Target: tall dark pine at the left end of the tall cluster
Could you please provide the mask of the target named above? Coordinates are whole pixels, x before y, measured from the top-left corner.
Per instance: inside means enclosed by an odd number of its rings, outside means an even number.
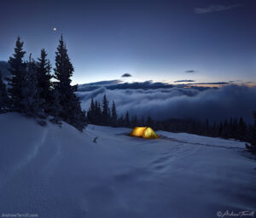
[[[10,109],[15,112],[24,112],[21,101],[23,100],[22,88],[26,80],[26,62],[23,60],[25,54],[23,42],[20,41],[20,37],[17,37],[15,54],[9,57],[9,72],[11,77],[7,78],[9,81],[9,95],[11,97]]]

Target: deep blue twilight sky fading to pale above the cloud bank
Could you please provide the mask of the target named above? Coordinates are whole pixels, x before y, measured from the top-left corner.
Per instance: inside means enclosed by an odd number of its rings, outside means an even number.
[[[63,33],[74,83],[126,72],[132,77],[122,79],[130,82],[256,82],[254,0],[2,0],[0,6],[0,60],[13,54],[20,35],[28,53],[36,57],[45,48],[54,66]]]

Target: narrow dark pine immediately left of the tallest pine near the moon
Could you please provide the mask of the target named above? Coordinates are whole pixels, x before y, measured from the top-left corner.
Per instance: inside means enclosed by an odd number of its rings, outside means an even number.
[[[47,53],[44,49],[41,49],[40,58],[37,62],[37,76],[38,76],[38,95],[43,101],[43,110],[46,113],[51,112],[51,105],[55,104],[52,93],[52,83],[50,79],[50,63],[47,59]]]

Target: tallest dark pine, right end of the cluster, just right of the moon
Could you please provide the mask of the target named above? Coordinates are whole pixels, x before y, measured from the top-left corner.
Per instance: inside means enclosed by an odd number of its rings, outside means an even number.
[[[62,35],[55,54],[54,77],[57,81],[54,83],[54,88],[61,94],[60,117],[77,129],[82,130],[86,124],[84,112],[81,110],[79,98],[75,95],[77,85],[71,85],[71,77],[73,76],[74,70],[67,54],[67,47],[63,41]]]

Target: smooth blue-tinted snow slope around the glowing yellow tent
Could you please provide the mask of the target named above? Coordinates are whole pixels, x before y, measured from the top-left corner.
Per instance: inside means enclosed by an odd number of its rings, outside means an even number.
[[[256,163],[244,142],[0,115],[0,214],[217,217],[256,210]],[[98,136],[97,143],[92,142]]]

